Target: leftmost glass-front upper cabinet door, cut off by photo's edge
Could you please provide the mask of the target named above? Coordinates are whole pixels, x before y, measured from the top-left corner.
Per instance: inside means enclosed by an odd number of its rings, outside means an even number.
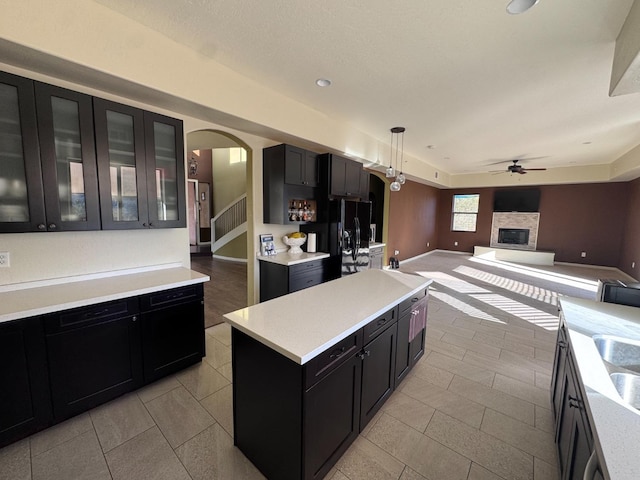
[[[33,81],[0,72],[0,232],[46,230]]]

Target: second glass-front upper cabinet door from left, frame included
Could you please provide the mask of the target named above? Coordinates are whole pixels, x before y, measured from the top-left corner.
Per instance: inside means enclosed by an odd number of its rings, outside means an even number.
[[[47,230],[99,230],[91,97],[35,85]]]

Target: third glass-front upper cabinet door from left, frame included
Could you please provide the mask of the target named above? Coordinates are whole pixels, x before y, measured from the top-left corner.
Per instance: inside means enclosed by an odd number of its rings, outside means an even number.
[[[149,228],[143,111],[99,98],[93,108],[102,228]]]

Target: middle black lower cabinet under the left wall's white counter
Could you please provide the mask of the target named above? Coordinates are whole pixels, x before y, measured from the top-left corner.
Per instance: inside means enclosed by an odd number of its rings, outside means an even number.
[[[44,323],[56,421],[142,385],[136,299],[49,315]]]

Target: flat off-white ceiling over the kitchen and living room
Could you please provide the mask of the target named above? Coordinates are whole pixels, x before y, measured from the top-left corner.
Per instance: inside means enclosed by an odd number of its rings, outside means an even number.
[[[517,16],[507,0],[96,1],[383,145],[404,126],[405,152],[450,174],[609,164],[640,144],[640,93],[608,94],[633,0]]]

